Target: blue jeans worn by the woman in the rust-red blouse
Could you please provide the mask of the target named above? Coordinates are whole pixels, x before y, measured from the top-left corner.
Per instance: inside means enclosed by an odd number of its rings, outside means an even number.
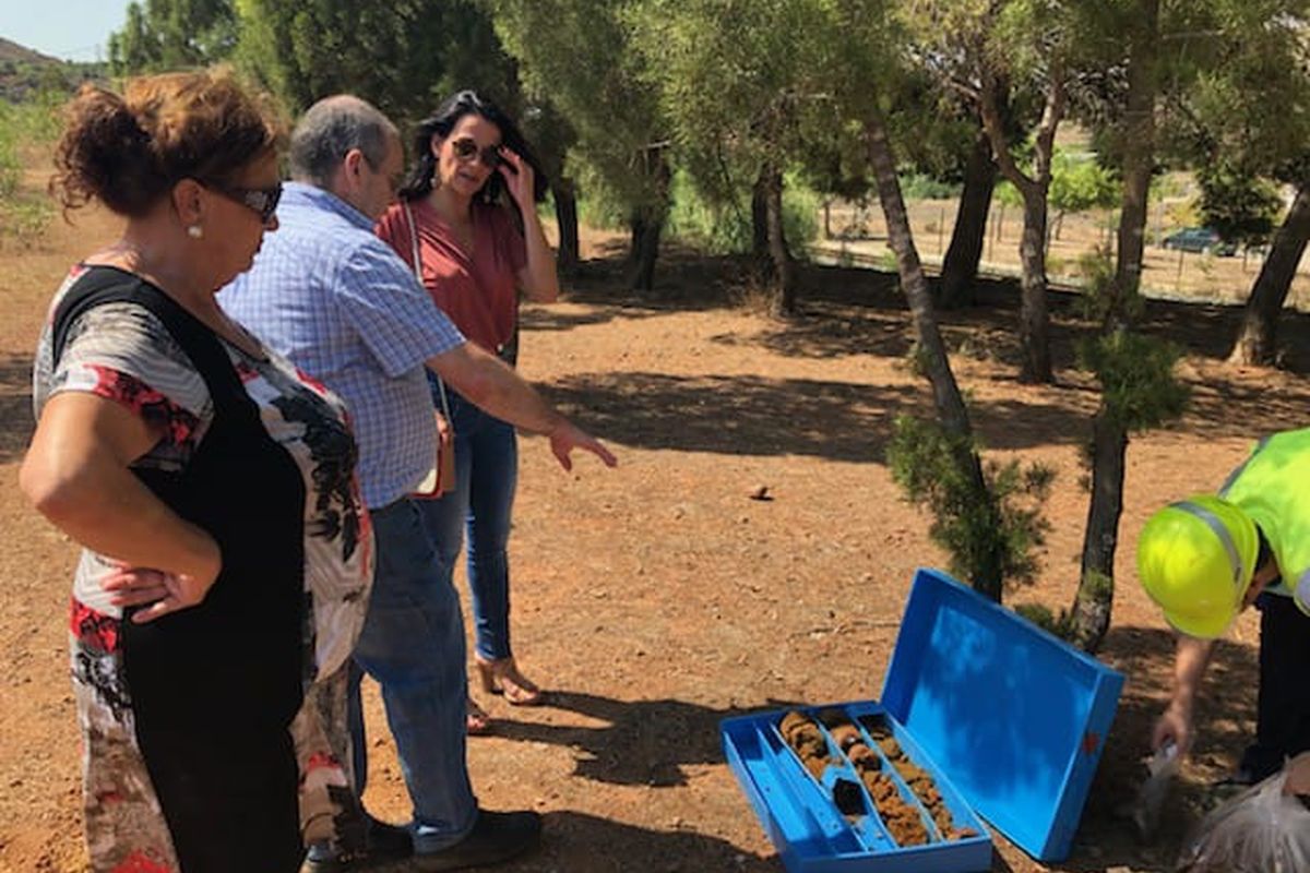
[[[432,383],[432,402],[441,398]],[[483,660],[507,658],[510,648],[510,514],[519,479],[519,444],[514,425],[487,415],[445,387],[455,427],[455,491],[439,500],[417,501],[432,544],[447,569],[460,558],[469,537],[469,589],[477,628],[477,653]]]

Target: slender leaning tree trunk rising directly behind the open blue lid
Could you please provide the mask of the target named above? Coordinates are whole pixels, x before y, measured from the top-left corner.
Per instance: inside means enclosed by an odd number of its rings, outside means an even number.
[[[933,402],[938,419],[948,433],[962,437],[962,445],[971,445],[968,440],[972,437],[972,428],[969,427],[968,408],[964,406],[960,387],[955,382],[955,374],[951,373],[950,359],[946,356],[946,344],[942,342],[937,314],[933,312],[933,297],[927,289],[918,250],[914,247],[900,181],[896,178],[896,158],[892,156],[891,141],[887,139],[887,128],[879,116],[870,115],[865,120],[865,141],[878,182],[878,199],[882,202],[883,215],[887,217],[887,238],[892,251],[896,253],[896,271],[900,275],[901,291],[905,292],[905,300],[909,302],[910,315],[914,319],[922,366],[933,386]],[[982,462],[979,459],[977,452],[968,449],[962,452],[956,459],[971,484],[975,504],[993,516],[994,527],[1000,529],[996,500],[982,478]],[[975,590],[1000,602],[1002,558],[998,544],[982,558],[981,563],[977,577],[971,582]]]

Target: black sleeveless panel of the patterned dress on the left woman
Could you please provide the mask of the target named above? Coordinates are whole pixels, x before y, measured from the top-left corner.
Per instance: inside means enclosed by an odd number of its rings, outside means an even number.
[[[122,623],[136,739],[186,873],[295,870],[299,776],[288,726],[305,674],[305,484],[219,338],[138,276],[93,267],[77,280],[55,312],[55,360],[80,314],[118,301],[164,323],[214,403],[181,471],[134,472],[223,555],[200,605]]]

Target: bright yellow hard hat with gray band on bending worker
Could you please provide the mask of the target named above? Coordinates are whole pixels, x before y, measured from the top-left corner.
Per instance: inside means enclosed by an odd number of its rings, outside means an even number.
[[[1137,539],[1137,577],[1176,630],[1222,636],[1255,575],[1260,535],[1250,516],[1213,495],[1171,503]]]

